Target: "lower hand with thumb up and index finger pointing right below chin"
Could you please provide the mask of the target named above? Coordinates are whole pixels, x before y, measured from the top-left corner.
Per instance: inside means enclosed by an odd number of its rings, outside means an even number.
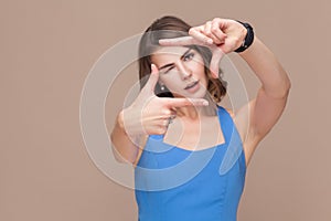
[[[206,106],[203,98],[158,97],[154,87],[159,80],[159,70],[151,65],[151,74],[135,102],[121,112],[122,123],[129,136],[166,134],[169,120],[175,117],[175,107]]]

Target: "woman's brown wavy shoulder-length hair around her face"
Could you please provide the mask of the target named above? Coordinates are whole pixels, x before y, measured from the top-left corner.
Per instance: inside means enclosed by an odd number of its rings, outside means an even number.
[[[172,39],[179,36],[189,36],[189,25],[183,20],[177,17],[162,17],[157,19],[143,33],[139,43],[139,80],[140,88],[142,88],[148,81],[148,76],[151,73],[151,55],[160,48],[160,39]],[[223,72],[220,69],[218,78],[213,78],[209,69],[212,52],[206,46],[201,45],[188,45],[188,48],[194,49],[201,54],[204,62],[204,72],[207,76],[207,91],[215,103],[220,103],[226,94],[227,82],[222,80]],[[173,95],[167,90],[162,92],[159,83],[156,85],[156,94],[160,97],[173,97]]]

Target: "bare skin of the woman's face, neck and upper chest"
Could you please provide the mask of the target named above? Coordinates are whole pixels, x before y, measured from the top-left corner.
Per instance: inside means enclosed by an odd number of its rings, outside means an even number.
[[[151,56],[160,72],[159,83],[168,87],[174,97],[203,98],[206,93],[207,76],[203,59],[193,49],[163,46]],[[185,87],[199,82],[192,90]],[[204,149],[224,143],[217,116],[205,116],[200,107],[175,108],[175,119],[168,126],[164,143],[184,149]]]

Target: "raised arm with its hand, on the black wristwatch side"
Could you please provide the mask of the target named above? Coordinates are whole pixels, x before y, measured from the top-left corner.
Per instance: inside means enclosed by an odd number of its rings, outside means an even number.
[[[238,49],[247,29],[239,22],[215,18],[190,30],[192,38],[161,40],[163,45],[203,44],[213,52],[211,71],[216,71],[223,54]],[[238,53],[259,78],[261,86],[254,99],[233,113],[234,120],[243,138],[248,164],[258,143],[271,130],[287,103],[290,80],[273,52],[255,35],[252,45]]]

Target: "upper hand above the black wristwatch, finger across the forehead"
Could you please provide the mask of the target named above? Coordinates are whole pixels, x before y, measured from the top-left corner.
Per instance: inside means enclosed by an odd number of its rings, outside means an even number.
[[[224,54],[238,49],[247,30],[239,22],[229,19],[215,18],[205,24],[190,29],[191,36],[162,39],[159,41],[164,46],[183,46],[190,44],[203,45],[211,49],[213,56],[210,65],[212,76],[218,77],[218,66]]]

